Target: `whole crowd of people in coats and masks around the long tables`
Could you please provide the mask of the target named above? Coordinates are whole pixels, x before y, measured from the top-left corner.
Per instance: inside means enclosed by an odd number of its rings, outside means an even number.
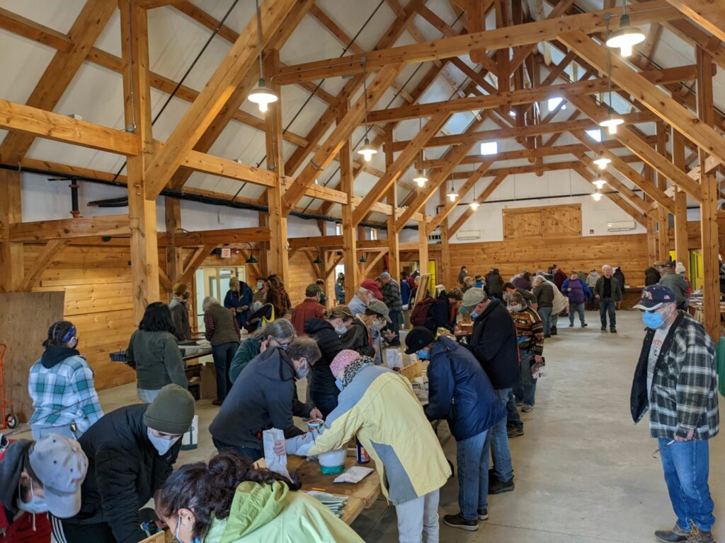
[[[637,307],[648,332],[631,409],[639,421],[650,405],[678,519],[658,537],[711,542],[712,500],[702,465],[707,439],[718,431],[709,380],[713,345],[678,311],[688,296],[679,264],[655,262],[645,274],[653,282]],[[294,473],[257,467],[265,455],[262,432],[272,428],[284,436],[274,444],[276,454],[320,455],[357,440],[395,507],[400,542],[439,540],[439,491],[454,473],[459,510],[442,521],[476,531],[489,518],[489,495],[515,489],[509,440],[523,436],[522,413],[536,405],[544,345],[558,334],[558,317],[568,313],[574,327],[578,316],[587,327],[584,309],[596,304],[602,331],[615,333],[624,276],[608,265],[601,274],[567,274],[553,265],[505,281],[498,269],[471,276],[463,266],[458,279],[434,296],[417,292],[419,271],[399,281],[384,272],[360,282],[345,303],[341,274],[334,304],[326,307],[325,285],[316,282],[293,307],[278,276],[258,277],[256,292],[234,277],[223,303],[202,302],[217,376],[213,403],[220,406],[208,431],[218,454],[176,471],[180,439],[195,413],[178,348],[191,340],[187,286],[174,286],[169,305],[146,308],[126,351],[143,403],[111,413],[101,409],[93,372],[78,351],[78,330],[68,321],[53,324],[30,369],[33,440],[0,445],[0,540],[2,530],[10,541],[47,541],[52,531],[60,543],[135,543],[144,539],[142,508],[153,499],[149,518],[182,543],[362,541],[297,492]],[[410,381],[387,365],[386,348],[402,344],[427,363],[423,405]],[[668,392],[673,372],[687,376],[687,391]],[[304,398],[301,379],[307,379]],[[658,392],[650,395],[653,384]],[[312,439],[294,417],[323,419],[321,432]],[[447,421],[455,465],[434,421]],[[673,438],[679,444],[667,448]],[[694,470],[694,479],[678,475],[685,469]]]

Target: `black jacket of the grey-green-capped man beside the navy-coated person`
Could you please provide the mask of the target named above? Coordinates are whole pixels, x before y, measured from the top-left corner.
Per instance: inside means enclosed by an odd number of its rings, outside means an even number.
[[[476,355],[495,390],[513,387],[521,370],[518,363],[516,327],[499,300],[491,300],[486,310],[473,321],[468,345]]]

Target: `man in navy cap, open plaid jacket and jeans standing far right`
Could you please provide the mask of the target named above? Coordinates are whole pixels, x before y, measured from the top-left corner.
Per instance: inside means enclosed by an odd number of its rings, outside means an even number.
[[[703,325],[676,307],[676,295],[650,285],[634,306],[647,327],[630,395],[637,424],[650,411],[665,483],[677,521],[655,531],[660,542],[714,543],[708,487],[709,440],[718,434],[715,345]]]

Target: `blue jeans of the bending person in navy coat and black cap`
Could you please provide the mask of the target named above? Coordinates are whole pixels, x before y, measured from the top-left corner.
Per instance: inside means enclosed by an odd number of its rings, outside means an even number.
[[[486,505],[481,505],[486,502],[486,494],[481,494],[481,492],[484,488],[488,492],[489,480],[488,452],[484,455],[486,434],[488,434],[488,430],[455,444],[458,466],[458,505],[460,514],[467,521],[477,520],[477,510],[486,507]]]

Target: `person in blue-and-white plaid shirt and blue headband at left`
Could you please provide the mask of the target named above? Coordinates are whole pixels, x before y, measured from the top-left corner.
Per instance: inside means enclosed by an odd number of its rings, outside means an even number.
[[[72,322],[55,322],[43,347],[28,377],[33,439],[39,441],[51,433],[78,439],[103,416],[94,372],[77,349],[78,330]]]

